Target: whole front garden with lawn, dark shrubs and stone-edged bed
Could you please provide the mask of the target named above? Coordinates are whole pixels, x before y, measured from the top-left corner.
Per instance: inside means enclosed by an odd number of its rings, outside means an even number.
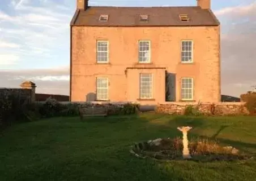
[[[108,117],[80,120],[76,104],[8,100],[1,114],[9,118],[0,132],[0,180],[256,177],[255,116],[203,116],[191,107],[187,115],[141,113],[126,104]],[[184,157],[182,126],[189,127],[190,158]]]

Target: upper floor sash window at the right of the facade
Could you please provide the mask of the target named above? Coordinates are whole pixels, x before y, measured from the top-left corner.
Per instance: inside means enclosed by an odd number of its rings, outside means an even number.
[[[193,62],[193,41],[191,40],[181,41],[181,62],[182,63]]]

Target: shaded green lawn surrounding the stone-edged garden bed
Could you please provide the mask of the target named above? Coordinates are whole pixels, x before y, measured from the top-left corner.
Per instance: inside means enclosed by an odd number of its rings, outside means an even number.
[[[0,135],[0,180],[255,180],[256,161],[156,162],[129,153],[134,142],[181,136],[216,138],[256,154],[256,117],[140,116],[51,118],[20,123]]]

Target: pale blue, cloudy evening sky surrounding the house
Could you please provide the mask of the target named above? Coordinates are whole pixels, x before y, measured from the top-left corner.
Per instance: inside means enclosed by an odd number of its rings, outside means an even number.
[[[89,0],[89,6],[195,6],[196,0]],[[36,83],[69,95],[70,21],[76,0],[0,0],[0,87]],[[256,85],[256,0],[212,0],[221,23],[221,94]]]

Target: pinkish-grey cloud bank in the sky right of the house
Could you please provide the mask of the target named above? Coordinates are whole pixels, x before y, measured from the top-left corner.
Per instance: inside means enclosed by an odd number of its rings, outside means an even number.
[[[221,92],[240,96],[256,85],[256,2],[216,11],[221,21]],[[239,85],[239,86],[238,86]]]

